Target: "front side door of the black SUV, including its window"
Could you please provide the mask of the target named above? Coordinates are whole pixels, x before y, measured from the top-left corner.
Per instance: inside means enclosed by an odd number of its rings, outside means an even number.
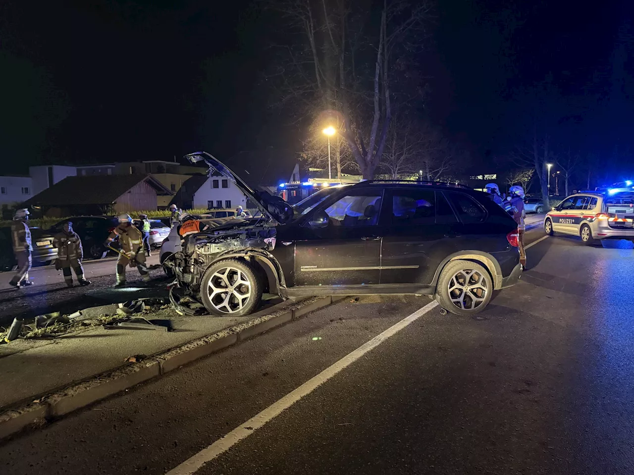
[[[296,286],[378,284],[382,197],[381,188],[351,190],[307,213],[295,241]]]

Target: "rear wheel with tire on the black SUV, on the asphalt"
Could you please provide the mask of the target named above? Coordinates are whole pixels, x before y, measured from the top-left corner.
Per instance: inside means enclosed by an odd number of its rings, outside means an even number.
[[[479,263],[453,260],[441,272],[436,301],[455,315],[479,314],[491,301],[493,279]]]

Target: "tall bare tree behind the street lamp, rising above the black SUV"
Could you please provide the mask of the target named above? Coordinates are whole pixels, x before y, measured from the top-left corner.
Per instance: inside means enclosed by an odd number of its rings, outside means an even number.
[[[281,105],[307,115],[332,111],[337,129],[366,179],[383,156],[392,103],[407,80],[428,0],[384,0],[378,21],[352,0],[269,0],[290,42],[275,82]],[[413,62],[413,61],[411,61]],[[301,113],[299,114],[301,115]]]

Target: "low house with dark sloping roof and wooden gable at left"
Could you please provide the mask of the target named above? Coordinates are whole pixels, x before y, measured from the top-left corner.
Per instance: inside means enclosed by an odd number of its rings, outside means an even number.
[[[69,176],[27,200],[49,217],[156,210],[157,196],[171,196],[152,175]]]

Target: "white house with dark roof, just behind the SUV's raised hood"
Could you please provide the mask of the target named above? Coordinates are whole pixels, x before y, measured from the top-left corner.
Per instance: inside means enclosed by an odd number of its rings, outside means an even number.
[[[183,183],[176,196],[172,198],[179,208],[255,208],[253,203],[247,201],[245,194],[228,178],[222,175],[205,177],[193,175]]]

